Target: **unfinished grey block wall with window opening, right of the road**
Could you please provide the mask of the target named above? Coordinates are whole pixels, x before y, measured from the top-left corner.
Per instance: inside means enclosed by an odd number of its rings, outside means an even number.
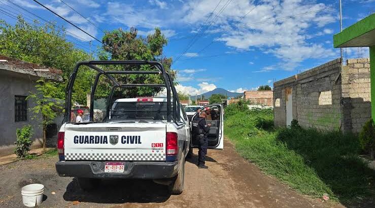
[[[292,88],[293,119],[303,127],[359,132],[370,118],[369,59],[340,60],[274,83],[275,125],[286,125],[285,89]]]

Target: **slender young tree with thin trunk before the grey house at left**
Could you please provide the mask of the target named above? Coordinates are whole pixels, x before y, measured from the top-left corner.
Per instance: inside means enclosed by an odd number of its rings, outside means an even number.
[[[61,93],[58,89],[58,84],[55,82],[46,82],[44,79],[37,81],[36,93],[31,93],[26,97],[26,100],[32,99],[36,106],[31,108],[33,113],[32,119],[41,120],[40,127],[43,130],[43,152],[46,151],[46,135],[47,126],[53,122],[53,119],[57,115],[62,113],[63,100],[56,97],[61,97],[63,95],[56,94]],[[41,118],[42,116],[42,118]]]

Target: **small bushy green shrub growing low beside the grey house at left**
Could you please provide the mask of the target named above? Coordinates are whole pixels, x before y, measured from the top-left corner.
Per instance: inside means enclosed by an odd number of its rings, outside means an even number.
[[[17,129],[17,141],[14,143],[16,145],[14,153],[17,157],[25,157],[28,151],[30,151],[32,133],[33,129],[31,125],[26,125],[21,129]]]

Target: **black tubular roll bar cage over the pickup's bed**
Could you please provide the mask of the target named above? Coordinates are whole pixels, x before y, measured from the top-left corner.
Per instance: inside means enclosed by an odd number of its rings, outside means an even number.
[[[112,60],[93,60],[93,61],[81,61],[78,62],[73,70],[73,73],[71,74],[69,78],[69,82],[66,85],[66,90],[65,90],[65,115],[64,115],[64,122],[70,123],[70,115],[71,115],[71,106],[72,106],[72,90],[74,86],[74,82],[77,77],[77,72],[80,66],[85,65],[93,70],[97,71],[98,74],[95,77],[94,85],[92,86],[91,89],[91,96],[90,96],[90,122],[93,121],[93,116],[94,116],[94,93],[96,90],[96,86],[99,80],[100,75],[105,75],[112,81],[114,86],[111,89],[110,93],[110,98],[112,99],[113,92],[115,87],[165,87],[166,88],[166,99],[167,99],[167,122],[171,122],[171,89],[173,92],[173,100],[174,100],[174,118],[175,121],[177,122],[177,118],[180,119],[180,113],[177,113],[176,111],[176,101],[178,105],[178,109],[180,112],[180,102],[178,99],[178,95],[176,92],[176,89],[173,85],[173,81],[171,79],[171,76],[165,71],[163,65],[158,62],[158,61],[137,61],[137,60],[126,60],[126,61],[112,61]],[[101,68],[95,66],[95,65],[151,65],[155,66],[158,71],[104,71]],[[163,84],[120,84],[114,79],[111,75],[112,74],[143,74],[143,75],[150,75],[150,74],[161,74],[163,79],[164,79],[164,85]],[[110,100],[111,101],[111,100]],[[110,102],[109,101],[109,102]],[[109,103],[108,103],[109,105]],[[109,111],[109,106],[107,105],[107,115]],[[177,117],[177,115],[178,117]]]

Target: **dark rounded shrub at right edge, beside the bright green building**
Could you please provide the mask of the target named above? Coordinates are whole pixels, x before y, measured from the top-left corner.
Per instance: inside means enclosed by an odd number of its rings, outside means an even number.
[[[369,119],[362,127],[359,133],[359,143],[365,151],[369,151],[371,158],[374,158],[375,149],[375,124]]]

